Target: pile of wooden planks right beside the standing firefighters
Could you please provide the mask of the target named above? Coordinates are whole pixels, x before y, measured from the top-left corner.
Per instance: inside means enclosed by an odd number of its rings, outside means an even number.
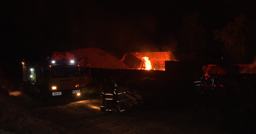
[[[141,103],[143,103],[143,94],[137,90],[130,91],[129,89],[126,89],[125,96],[126,96],[125,104],[128,106],[133,107],[135,105],[138,106]]]

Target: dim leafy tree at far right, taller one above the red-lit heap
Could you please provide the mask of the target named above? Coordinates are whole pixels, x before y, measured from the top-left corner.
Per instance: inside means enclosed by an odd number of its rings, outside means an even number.
[[[236,17],[235,22],[229,22],[222,31],[213,30],[214,40],[221,39],[224,42],[223,51],[229,62],[239,63],[244,59],[246,54],[246,31],[248,30],[247,22],[247,18],[241,13]]]

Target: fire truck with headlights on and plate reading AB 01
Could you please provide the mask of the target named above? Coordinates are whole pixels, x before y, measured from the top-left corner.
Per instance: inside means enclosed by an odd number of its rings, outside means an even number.
[[[22,90],[32,91],[44,101],[55,97],[80,96],[82,87],[90,83],[90,71],[83,72],[81,76],[74,54],[67,51],[54,51],[47,60],[38,63],[23,60],[22,64]]]

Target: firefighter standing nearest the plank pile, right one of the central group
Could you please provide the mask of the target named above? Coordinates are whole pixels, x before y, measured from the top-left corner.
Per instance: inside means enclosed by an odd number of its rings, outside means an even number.
[[[116,102],[119,107],[119,114],[123,114],[125,112],[125,84],[123,82],[119,82],[118,86],[114,90],[114,94],[116,95]]]

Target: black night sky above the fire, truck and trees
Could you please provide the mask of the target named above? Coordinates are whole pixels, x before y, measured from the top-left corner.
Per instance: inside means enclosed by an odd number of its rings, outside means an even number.
[[[171,51],[182,20],[199,11],[212,45],[240,13],[255,22],[255,0],[3,0],[1,57],[38,59],[49,51],[96,47],[120,51]],[[8,55],[8,56],[7,56]],[[8,58],[4,58],[8,59]]]

